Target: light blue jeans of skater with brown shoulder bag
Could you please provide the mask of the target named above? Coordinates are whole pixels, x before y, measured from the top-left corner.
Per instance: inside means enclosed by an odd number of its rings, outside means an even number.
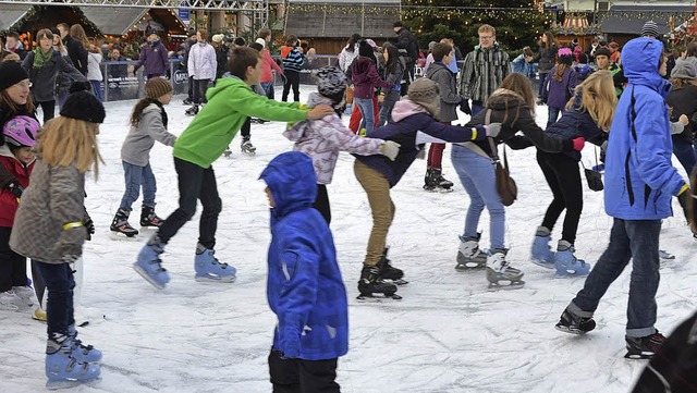
[[[505,209],[497,191],[493,160],[460,145],[453,145],[451,157],[455,172],[469,195],[469,208],[461,240],[477,236],[479,218],[486,206],[490,218],[490,249],[505,248]]]

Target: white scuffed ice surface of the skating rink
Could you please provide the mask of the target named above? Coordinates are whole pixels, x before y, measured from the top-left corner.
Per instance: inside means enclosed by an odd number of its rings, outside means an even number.
[[[303,100],[314,88],[302,87]],[[279,91],[280,93],[280,91]],[[170,130],[180,134],[191,121],[183,97],[168,107]],[[135,242],[109,238],[109,224],[123,194],[120,148],[134,101],[107,105],[99,144],[106,164],[99,181],[87,183],[87,208],[97,233],[85,245],[83,341],[105,353],[102,380],[76,392],[270,392],[267,355],[274,318],[266,302],[269,243],[265,165],[291,148],[282,123],[253,125],[256,157],[240,152],[213,165],[223,211],[217,256],[237,268],[233,284],[193,280],[198,214],[172,240],[163,255],[171,283],[154,288],[131,268],[146,236]],[[538,108],[545,124],[546,108]],[[345,116],[347,122],[347,116]],[[401,302],[359,304],[356,282],[370,231],[367,197],[353,174],[354,159],[342,153],[329,186],[339,261],[350,297],[350,352],[339,361],[343,392],[628,392],[645,361],[625,360],[624,326],[629,270],[600,303],[597,329],[585,336],[554,330],[560,314],[583,279],[558,280],[553,271],[528,262],[534,232],[551,200],[535,161],[535,149],[509,150],[518,200],[506,209],[510,260],[525,272],[526,285],[490,292],[484,271],[457,272],[457,235],[468,199],[456,179],[448,147],[444,174],[450,194],[421,189],[426,162],[417,160],[393,189],[396,216],[389,235],[390,257],[411,283]],[[586,147],[586,164],[592,148]],[[158,207],[167,217],[179,193],[171,149],[156,144],[151,164],[158,180]],[[132,223],[137,223],[139,201]],[[674,209],[678,212],[677,204]],[[603,251],[611,219],[602,193],[585,188],[585,209],[576,243],[579,257],[594,262]],[[480,229],[488,247],[488,214]],[[561,221],[553,233],[558,240]],[[676,259],[664,262],[658,293],[658,328],[670,332],[697,308],[695,242],[681,218],[663,222],[662,248]],[[103,316],[103,317],[102,317]],[[0,314],[0,392],[44,391],[46,326],[28,312]]]

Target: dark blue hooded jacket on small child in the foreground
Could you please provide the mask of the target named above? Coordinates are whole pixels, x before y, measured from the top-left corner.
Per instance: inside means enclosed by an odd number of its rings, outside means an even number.
[[[276,157],[261,172],[276,207],[267,298],[278,317],[273,347],[290,358],[333,359],[348,352],[348,304],[334,241],[313,208],[317,177],[303,152]]]

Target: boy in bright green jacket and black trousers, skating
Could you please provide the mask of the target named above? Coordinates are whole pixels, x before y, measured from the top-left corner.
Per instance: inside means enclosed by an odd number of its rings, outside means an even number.
[[[200,214],[198,244],[194,269],[196,281],[233,282],[235,268],[221,263],[213,256],[216,229],[222,201],[218,196],[216,174],[211,163],[224,151],[247,116],[298,122],[317,120],[334,111],[330,106],[305,109],[297,102],[278,102],[259,96],[250,88],[259,84],[261,54],[247,47],[235,48],[228,63],[232,77],[216,82],[208,89],[208,105],[194,118],[174,144],[174,169],[179,179],[179,209],[174,210],[138,254],[133,268],[150,284],[163,288],[169,274],[162,268],[160,254],[174,234],[196,212],[196,199],[204,211]]]

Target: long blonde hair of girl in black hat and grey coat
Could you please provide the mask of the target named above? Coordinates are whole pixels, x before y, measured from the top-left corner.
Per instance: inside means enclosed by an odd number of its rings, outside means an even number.
[[[99,162],[105,162],[97,147],[98,133],[97,123],[58,116],[46,123],[35,149],[51,167],[75,165],[83,173],[91,167],[97,179]]]

